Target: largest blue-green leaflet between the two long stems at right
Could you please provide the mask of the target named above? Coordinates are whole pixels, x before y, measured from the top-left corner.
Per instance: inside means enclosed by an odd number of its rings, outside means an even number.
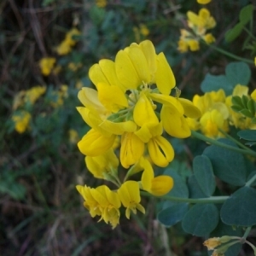
[[[237,148],[229,139],[219,139],[220,143]],[[247,168],[242,154],[216,145],[207,147],[203,154],[212,162],[214,174],[226,183],[242,186],[246,182]]]

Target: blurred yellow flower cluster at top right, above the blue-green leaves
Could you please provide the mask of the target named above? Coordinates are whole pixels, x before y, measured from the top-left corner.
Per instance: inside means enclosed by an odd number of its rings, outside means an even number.
[[[191,31],[185,29],[181,30],[177,49],[180,52],[186,52],[189,49],[191,51],[199,50],[201,40],[205,41],[207,44],[212,44],[215,38],[212,36],[212,33],[207,33],[207,30],[216,26],[216,21],[211,16],[209,10],[202,8],[198,15],[189,11],[187,16],[188,26]]]

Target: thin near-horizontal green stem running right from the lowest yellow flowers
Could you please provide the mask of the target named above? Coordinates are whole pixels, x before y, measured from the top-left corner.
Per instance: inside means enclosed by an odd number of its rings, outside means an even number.
[[[151,195],[148,192],[141,191],[141,195],[145,196],[155,196]],[[158,197],[158,196],[156,196]],[[177,202],[188,202],[191,204],[222,204],[226,201],[230,196],[210,196],[207,198],[182,198],[176,196],[163,195],[160,196],[160,199],[168,200],[168,201],[177,201]]]

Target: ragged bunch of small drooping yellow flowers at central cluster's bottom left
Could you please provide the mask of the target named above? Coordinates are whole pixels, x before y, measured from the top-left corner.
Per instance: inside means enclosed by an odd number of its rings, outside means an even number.
[[[119,207],[121,202],[117,192],[110,190],[106,185],[91,189],[86,185],[77,185],[80,195],[84,198],[84,207],[90,212],[92,218],[101,216],[106,224],[111,224],[113,229],[119,224]]]

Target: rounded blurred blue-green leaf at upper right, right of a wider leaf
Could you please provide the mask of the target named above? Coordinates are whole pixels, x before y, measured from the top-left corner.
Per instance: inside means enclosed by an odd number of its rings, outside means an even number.
[[[236,84],[247,85],[251,79],[251,69],[245,62],[230,62],[225,68],[226,78],[234,88]]]

